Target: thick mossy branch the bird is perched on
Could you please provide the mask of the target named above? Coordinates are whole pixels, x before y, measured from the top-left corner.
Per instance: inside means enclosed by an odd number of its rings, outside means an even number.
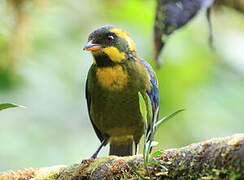
[[[145,170],[141,156],[108,156],[72,166],[3,172],[0,180],[243,179],[244,134],[162,150]]]

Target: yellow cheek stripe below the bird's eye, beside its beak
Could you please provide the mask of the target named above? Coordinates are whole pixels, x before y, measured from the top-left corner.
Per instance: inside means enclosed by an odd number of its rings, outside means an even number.
[[[125,53],[124,52],[120,52],[116,47],[107,47],[102,49],[102,52],[104,52],[105,54],[107,54],[109,56],[109,58],[114,61],[114,62],[121,62],[122,60],[124,60],[125,57]]]

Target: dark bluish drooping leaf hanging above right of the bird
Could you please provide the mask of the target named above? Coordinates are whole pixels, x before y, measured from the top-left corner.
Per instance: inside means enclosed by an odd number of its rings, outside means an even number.
[[[158,67],[160,52],[165,47],[169,36],[182,28],[202,10],[207,9],[206,17],[209,28],[209,44],[213,47],[211,9],[214,0],[157,0],[154,20],[154,60]]]

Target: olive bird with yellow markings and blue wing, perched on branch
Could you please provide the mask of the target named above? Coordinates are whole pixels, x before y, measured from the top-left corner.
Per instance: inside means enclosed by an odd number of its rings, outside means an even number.
[[[107,144],[109,155],[137,154],[145,125],[149,131],[158,119],[158,81],[152,67],[137,55],[131,36],[113,25],[92,31],[83,50],[93,56],[85,95],[101,142],[91,158]]]

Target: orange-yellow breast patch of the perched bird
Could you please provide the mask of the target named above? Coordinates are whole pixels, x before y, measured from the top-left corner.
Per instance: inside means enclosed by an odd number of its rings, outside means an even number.
[[[128,74],[120,65],[98,68],[96,76],[98,83],[110,91],[121,91],[128,83]]]

